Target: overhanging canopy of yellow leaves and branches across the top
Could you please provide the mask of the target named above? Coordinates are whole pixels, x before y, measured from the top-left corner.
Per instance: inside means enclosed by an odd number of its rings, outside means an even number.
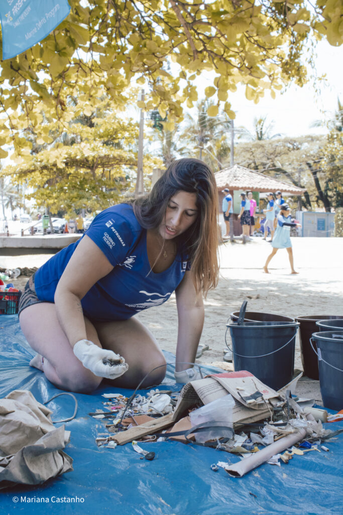
[[[340,0],[141,0],[111,2],[69,0],[67,19],[42,42],[23,54],[2,61],[0,75],[0,145],[17,150],[27,145],[18,127],[37,127],[41,116],[34,109],[44,104],[47,119],[65,117],[68,98],[77,90],[88,97],[89,116],[99,90],[119,109],[129,100],[133,80],[149,83],[146,109],[168,112],[168,130],[182,117],[182,104],[197,101],[195,82],[214,72],[209,116],[220,106],[229,117],[227,101],[237,84],[246,97],[258,102],[265,91],[275,91],[294,80],[302,85],[306,70],[301,55],[309,37],[342,43]],[[164,64],[171,59],[178,71]],[[40,111],[41,112],[41,111]],[[45,142],[46,143],[46,142]],[[0,158],[7,151],[0,150]]]

